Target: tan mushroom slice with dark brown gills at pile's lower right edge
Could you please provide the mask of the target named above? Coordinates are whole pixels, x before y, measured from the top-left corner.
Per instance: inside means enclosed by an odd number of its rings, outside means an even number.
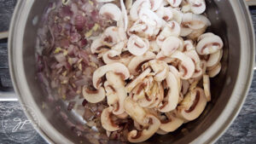
[[[177,107],[178,115],[188,121],[198,118],[207,106],[207,98],[203,89],[195,88],[191,93],[186,95],[183,101],[189,101],[192,105],[189,108],[183,104]]]

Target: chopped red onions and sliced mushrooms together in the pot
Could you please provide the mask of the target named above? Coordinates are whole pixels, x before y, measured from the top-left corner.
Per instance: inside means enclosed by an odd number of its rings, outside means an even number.
[[[204,0],[67,0],[38,30],[38,78],[109,139],[147,141],[198,118],[224,43]]]

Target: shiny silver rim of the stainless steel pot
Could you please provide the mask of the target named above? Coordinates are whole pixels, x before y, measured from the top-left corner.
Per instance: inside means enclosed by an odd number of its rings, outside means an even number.
[[[35,101],[33,101],[31,91],[28,88],[23,63],[21,65],[17,65],[16,63],[17,61],[23,60],[22,55],[17,54],[22,54],[22,44],[19,43],[22,43],[27,20],[26,18],[32,8],[33,2],[34,0],[18,1],[15,7],[9,32],[9,72],[14,84],[15,92],[19,95],[19,101],[21,104],[28,104],[38,112],[38,118],[41,121],[40,127],[35,128],[38,133],[49,143],[61,143],[63,141],[65,141],[65,143],[73,143],[67,139],[67,137],[61,135],[58,130],[55,130],[55,128],[49,124],[49,121],[44,118],[43,113],[40,112],[39,106]],[[230,124],[232,124],[240,112],[253,79],[255,40],[252,20],[244,1],[235,0],[230,1],[230,3],[233,9],[238,9],[234,10],[234,13],[236,15],[236,22],[241,34],[241,47],[248,48],[248,52],[241,50],[241,61],[236,84],[234,91],[230,96],[230,101],[227,103],[224,111],[204,133],[199,135],[191,143],[213,143],[224,134],[224,131],[230,127]],[[246,70],[247,72],[245,72]],[[24,98],[24,96],[21,95],[30,96],[30,101],[27,100],[27,97]],[[25,113],[27,118],[32,119],[31,113],[26,111]],[[32,123],[34,124],[33,120]]]

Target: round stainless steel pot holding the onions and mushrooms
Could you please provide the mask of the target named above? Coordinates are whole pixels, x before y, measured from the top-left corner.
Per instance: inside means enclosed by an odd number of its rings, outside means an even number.
[[[212,143],[236,118],[252,81],[254,63],[253,26],[247,5],[241,0],[206,0],[212,32],[224,39],[222,71],[212,80],[212,101],[200,118],[169,135],[154,135],[143,143]],[[15,92],[22,104],[38,114],[38,132],[50,143],[88,143],[69,130],[55,107],[67,113],[72,123],[81,123],[66,111],[63,101],[44,103],[46,95],[35,79],[35,43],[38,20],[49,0],[18,1],[9,32],[9,68]],[[26,112],[28,118],[32,114]],[[88,131],[87,131],[88,132]],[[86,130],[85,132],[86,133]]]

